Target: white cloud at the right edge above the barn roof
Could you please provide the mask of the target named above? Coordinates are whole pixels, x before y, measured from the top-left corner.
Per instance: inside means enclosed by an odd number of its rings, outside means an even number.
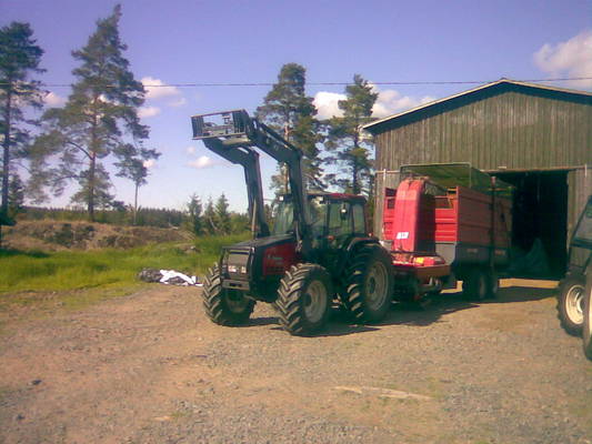
[[[592,30],[580,32],[555,46],[545,43],[533,56],[539,69],[552,77],[592,77]],[[574,87],[592,87],[592,80],[573,81]]]

